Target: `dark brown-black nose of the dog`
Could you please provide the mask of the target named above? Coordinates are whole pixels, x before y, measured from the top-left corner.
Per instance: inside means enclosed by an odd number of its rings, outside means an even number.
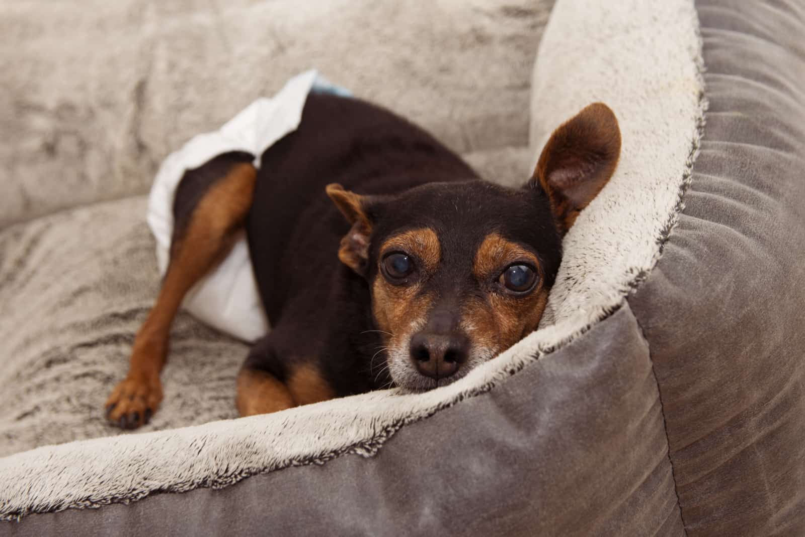
[[[456,373],[469,356],[469,339],[460,334],[417,333],[411,337],[411,360],[416,370],[439,380]]]

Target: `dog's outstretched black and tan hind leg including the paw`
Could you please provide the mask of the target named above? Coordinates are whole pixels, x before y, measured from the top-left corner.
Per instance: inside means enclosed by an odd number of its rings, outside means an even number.
[[[106,401],[121,428],[147,423],[162,401],[159,373],[184,295],[226,256],[249,212],[257,171],[245,153],[227,153],[184,174],[174,203],[171,261],[154,308],[134,338],[129,373]]]

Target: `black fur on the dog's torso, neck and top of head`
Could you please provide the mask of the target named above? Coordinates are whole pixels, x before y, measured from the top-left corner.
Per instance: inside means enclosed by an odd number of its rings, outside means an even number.
[[[246,233],[272,330],[254,345],[246,367],[284,381],[292,362],[313,360],[339,396],[390,382],[376,377],[382,359],[370,364],[382,343],[371,332],[367,279],[337,257],[349,225],[324,193],[329,183],[372,196],[370,259],[391,233],[436,231],[445,267],[440,295],[479,292],[468,277],[473,253],[493,231],[534,250],[547,287],[553,283],[561,242],[541,188],[486,183],[430,134],[387,110],[313,93],[299,129],[262,155]],[[369,281],[377,270],[370,262]]]

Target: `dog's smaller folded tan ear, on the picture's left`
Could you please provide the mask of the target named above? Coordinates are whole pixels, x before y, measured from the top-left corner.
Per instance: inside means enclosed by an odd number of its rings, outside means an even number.
[[[369,236],[372,234],[372,222],[366,213],[367,197],[344,190],[338,183],[328,184],[324,190],[352,225],[349,233],[341,239],[338,258],[358,275],[365,276],[369,263]]]

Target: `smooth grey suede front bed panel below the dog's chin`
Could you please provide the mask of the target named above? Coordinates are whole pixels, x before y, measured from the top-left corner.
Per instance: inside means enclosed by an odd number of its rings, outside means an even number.
[[[432,438],[444,442],[423,441]],[[0,535],[263,533],[683,535],[656,381],[630,309],[487,394],[401,429],[369,459],[0,524]]]

